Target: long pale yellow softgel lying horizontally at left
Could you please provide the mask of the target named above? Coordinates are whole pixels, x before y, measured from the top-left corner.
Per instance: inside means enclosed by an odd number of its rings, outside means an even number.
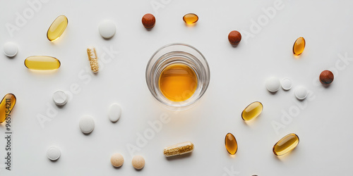
[[[56,70],[61,63],[52,56],[30,56],[25,59],[25,66],[31,70]]]

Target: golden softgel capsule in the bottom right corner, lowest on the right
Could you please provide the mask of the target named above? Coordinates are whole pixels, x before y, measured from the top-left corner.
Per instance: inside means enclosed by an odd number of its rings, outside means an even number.
[[[291,133],[280,139],[275,146],[273,146],[273,153],[276,156],[282,156],[289,151],[292,151],[299,144],[299,137],[297,134]]]

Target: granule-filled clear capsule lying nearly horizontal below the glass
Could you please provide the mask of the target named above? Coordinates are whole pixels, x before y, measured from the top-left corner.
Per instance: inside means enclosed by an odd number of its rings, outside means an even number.
[[[192,142],[182,142],[179,144],[175,144],[173,146],[167,146],[164,148],[164,156],[177,156],[185,153],[191,153],[193,151],[193,143]]]

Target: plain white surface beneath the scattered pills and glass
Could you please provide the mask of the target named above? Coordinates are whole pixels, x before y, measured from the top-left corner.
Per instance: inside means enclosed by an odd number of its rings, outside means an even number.
[[[0,126],[0,175],[352,174],[353,61],[345,63],[337,55],[353,58],[353,1],[283,0],[282,9],[255,34],[251,21],[265,17],[262,8],[273,7],[275,1],[52,0],[42,3],[11,37],[6,23],[16,25],[16,13],[31,15],[28,1],[0,2],[0,45],[9,41],[19,45],[15,58],[0,56],[0,94],[12,92],[18,100],[12,113],[10,172],[4,168],[4,123]],[[155,11],[151,2],[165,4]],[[145,13],[153,13],[157,19],[150,31],[140,22]],[[197,25],[184,24],[186,13],[198,14]],[[68,27],[60,39],[49,42],[47,29],[61,14],[68,17]],[[102,39],[97,30],[104,19],[114,20],[117,27],[109,40]],[[237,47],[227,40],[232,30],[243,34]],[[253,36],[246,38],[246,32]],[[306,49],[296,58],[292,44],[298,37],[306,39]],[[203,99],[180,113],[159,106],[145,84],[150,56],[174,42],[199,49],[211,71]],[[104,47],[119,51],[112,61],[101,65],[97,75],[90,75],[86,53],[90,45],[97,48],[99,56]],[[54,73],[32,72],[23,61],[35,55],[59,58],[61,68]],[[318,75],[332,68],[335,80],[323,88]],[[294,89],[270,94],[265,89],[270,76],[288,77],[294,88],[305,86],[312,92],[310,99],[297,101]],[[78,85],[80,92],[63,108],[56,107],[52,93],[57,89],[71,92],[72,85]],[[241,111],[253,101],[263,103],[263,113],[246,123],[241,120]],[[108,107],[114,102],[123,109],[116,123],[107,118]],[[41,127],[37,117],[47,116],[50,106],[57,114]],[[283,112],[289,111],[294,115],[292,120],[276,132],[273,122],[282,123]],[[171,120],[134,153],[146,161],[145,168],[136,171],[126,145],[136,145],[138,134],[151,129],[148,122],[163,114]],[[95,119],[95,130],[89,135],[78,128],[83,115]],[[235,156],[225,149],[227,132],[237,138]],[[291,132],[299,135],[299,146],[287,156],[274,156],[275,142]],[[165,146],[185,141],[195,144],[191,155],[163,156]],[[59,161],[49,161],[49,146],[61,149]],[[119,169],[110,164],[110,156],[116,152],[125,159]],[[237,172],[228,174],[229,170]]]

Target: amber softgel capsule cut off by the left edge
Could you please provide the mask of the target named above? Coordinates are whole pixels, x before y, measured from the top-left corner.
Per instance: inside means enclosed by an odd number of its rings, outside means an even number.
[[[16,96],[14,94],[6,94],[0,103],[0,123],[6,118],[10,118],[13,106],[16,104]]]

